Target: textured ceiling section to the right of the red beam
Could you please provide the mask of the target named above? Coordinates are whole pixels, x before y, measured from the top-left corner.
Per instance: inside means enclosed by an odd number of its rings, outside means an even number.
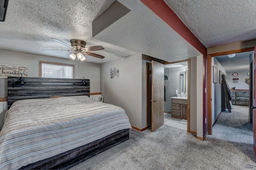
[[[164,0],[207,48],[256,39],[255,0]]]

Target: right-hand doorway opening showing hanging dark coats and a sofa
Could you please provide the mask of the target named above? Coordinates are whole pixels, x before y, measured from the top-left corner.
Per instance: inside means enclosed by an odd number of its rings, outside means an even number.
[[[249,112],[251,57],[252,51],[248,51],[212,59],[212,126],[217,124],[252,132],[252,115]],[[228,89],[227,94],[224,93],[225,88]]]

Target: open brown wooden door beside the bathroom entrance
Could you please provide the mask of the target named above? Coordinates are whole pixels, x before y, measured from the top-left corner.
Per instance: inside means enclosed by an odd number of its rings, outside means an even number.
[[[152,61],[152,129],[164,125],[164,65]]]

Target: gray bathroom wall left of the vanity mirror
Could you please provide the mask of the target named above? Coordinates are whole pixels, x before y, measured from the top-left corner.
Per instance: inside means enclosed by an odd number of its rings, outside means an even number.
[[[175,90],[180,94],[180,71],[186,71],[186,67],[174,67],[164,69],[164,74],[168,76],[168,80],[164,80],[166,85],[166,101],[164,102],[164,111],[172,112],[171,97],[175,97]]]

